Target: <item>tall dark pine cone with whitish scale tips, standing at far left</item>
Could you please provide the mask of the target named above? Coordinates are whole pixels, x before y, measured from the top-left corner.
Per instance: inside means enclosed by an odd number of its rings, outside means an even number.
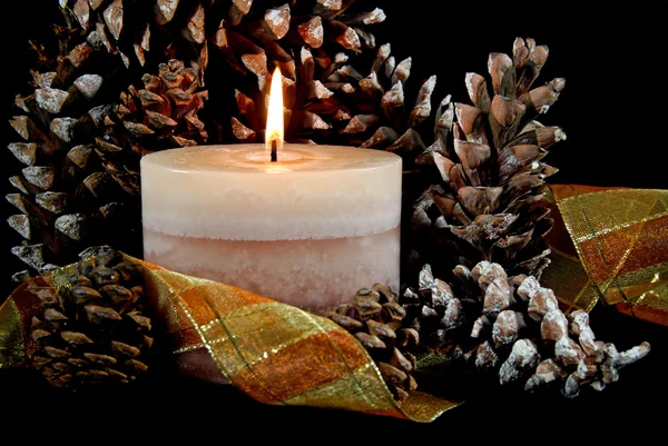
[[[65,69],[85,62],[108,68],[90,52],[72,50],[57,71],[33,72],[35,93],[16,100],[27,115],[10,121],[26,141],[9,145],[22,167],[10,177],[17,192],[7,195],[21,214],[8,221],[27,240],[12,252],[38,274],[89,246],[90,231],[115,234],[107,229],[124,217],[114,212],[124,190],[86,143],[106,113],[104,78]]]

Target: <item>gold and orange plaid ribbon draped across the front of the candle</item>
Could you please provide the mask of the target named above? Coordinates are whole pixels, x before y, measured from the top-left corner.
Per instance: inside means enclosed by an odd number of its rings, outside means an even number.
[[[252,293],[145,268],[145,291],[171,337],[184,374],[230,383],[258,402],[338,408],[431,422],[460,402],[413,392],[400,404],[355,337],[332,320]],[[0,307],[0,368],[26,366],[29,320],[45,287],[67,286],[70,267],[21,285]],[[20,303],[20,305],[19,305]],[[24,308],[23,310],[18,307]]]

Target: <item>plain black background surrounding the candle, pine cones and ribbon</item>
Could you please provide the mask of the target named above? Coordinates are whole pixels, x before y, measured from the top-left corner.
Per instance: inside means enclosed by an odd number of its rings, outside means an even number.
[[[13,96],[29,90],[32,59],[28,38],[50,36],[52,18],[40,10],[46,3],[0,3],[2,122],[16,112]],[[412,57],[412,79],[436,75],[435,100],[450,93],[453,100],[468,102],[464,75],[484,73],[488,53],[510,52],[515,37],[532,37],[539,44],[549,46],[542,82],[563,77],[566,89],[542,122],[561,126],[568,135],[568,140],[554,146],[546,159],[560,169],[552,182],[668,187],[664,133],[668,86],[662,67],[668,2],[599,2],[589,9],[583,9],[588,4],[584,2],[375,3],[387,14],[376,32],[377,42],[391,42],[399,60]],[[3,147],[18,140],[9,125],[1,128]],[[6,150],[3,167],[10,165],[10,157]],[[7,180],[3,187],[7,194]],[[13,212],[10,208],[3,205],[4,217]],[[9,249],[18,240],[9,226],[1,234],[2,261],[11,264],[14,259]],[[6,276],[3,289],[9,293],[13,284],[7,281]],[[576,400],[473,384],[471,397],[462,407],[431,424],[415,424],[340,410],[264,406],[225,386],[180,378],[163,377],[145,387],[117,393],[72,395],[53,392],[30,374],[0,370],[0,426],[10,430],[29,427],[17,433],[32,439],[91,440],[101,435],[128,440],[183,436],[194,442],[215,436],[227,442],[235,432],[242,438],[297,443],[306,443],[314,434],[318,443],[399,440],[405,435],[402,442],[415,444],[500,439],[568,443],[625,435],[642,440],[665,435],[668,329],[606,307],[595,309],[592,327],[598,338],[620,348],[648,340],[654,349],[640,363],[625,368],[620,381],[600,394],[584,393]],[[255,427],[248,430],[252,423]],[[52,430],[55,426],[57,430]],[[131,432],[135,434],[128,434]]]

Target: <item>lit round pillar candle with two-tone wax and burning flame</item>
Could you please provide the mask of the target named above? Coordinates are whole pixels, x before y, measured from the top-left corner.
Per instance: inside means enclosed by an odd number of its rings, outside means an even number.
[[[375,283],[396,289],[401,157],[284,145],[279,79],[269,100],[279,117],[268,113],[264,147],[199,146],[141,159],[145,260],[316,314]]]

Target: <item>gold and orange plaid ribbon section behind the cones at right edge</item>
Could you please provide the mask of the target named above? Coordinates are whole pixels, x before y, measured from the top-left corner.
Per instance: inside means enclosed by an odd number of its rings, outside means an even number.
[[[556,185],[546,197],[556,225],[543,286],[571,308],[602,298],[668,325],[668,190]]]

